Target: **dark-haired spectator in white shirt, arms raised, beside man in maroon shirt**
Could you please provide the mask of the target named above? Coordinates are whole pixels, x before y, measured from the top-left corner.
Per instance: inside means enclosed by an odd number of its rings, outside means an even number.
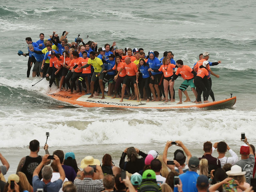
[[[221,168],[226,163],[235,165],[235,163],[238,161],[238,156],[236,155],[236,153],[232,149],[230,149],[230,147],[224,141],[214,143],[212,147],[212,153],[216,148],[219,154],[218,159],[220,160]],[[225,157],[227,150],[232,157]]]

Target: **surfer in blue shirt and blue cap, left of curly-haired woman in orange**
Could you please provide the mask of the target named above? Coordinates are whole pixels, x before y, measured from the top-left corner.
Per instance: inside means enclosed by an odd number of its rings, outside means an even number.
[[[149,65],[149,68],[158,70],[161,66],[159,59],[155,57],[154,52],[149,53],[149,58],[147,61],[147,64]],[[159,89],[159,83],[162,76],[162,72],[152,72],[152,76],[150,77],[149,81],[149,87],[153,94],[154,99],[152,101],[160,101],[160,89]],[[155,92],[156,89],[156,92]],[[158,98],[156,98],[156,94]]]

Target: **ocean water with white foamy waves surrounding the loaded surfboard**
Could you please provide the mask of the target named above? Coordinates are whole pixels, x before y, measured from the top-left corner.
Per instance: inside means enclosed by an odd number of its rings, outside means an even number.
[[[256,144],[255,1],[0,2],[0,152],[10,162],[8,174],[29,154],[32,139],[44,145],[45,132],[50,132],[50,153],[74,151],[78,164],[87,155],[101,159],[109,153],[118,165],[126,147],[162,153],[167,140],[184,142],[198,157],[205,141],[224,140],[239,154],[241,132]],[[78,34],[87,41],[89,35],[98,47],[116,41],[119,48],[142,47],[160,57],[172,51],[175,60],[190,67],[208,51],[209,61],[222,61],[212,67],[220,75],[212,76],[216,100],[232,93],[237,102],[225,110],[170,111],[81,108],[54,100],[46,94],[56,87],[49,90],[46,80],[32,86],[40,78],[32,78],[32,70],[26,78],[28,57],[17,53],[27,53],[26,37],[37,41],[39,33],[48,38],[52,31],[61,35],[64,30],[70,32],[68,41]],[[181,82],[175,81],[176,90]]]

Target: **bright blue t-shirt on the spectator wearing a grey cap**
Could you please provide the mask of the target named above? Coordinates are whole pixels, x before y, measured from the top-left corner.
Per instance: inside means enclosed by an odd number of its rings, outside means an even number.
[[[196,180],[199,174],[194,171],[187,171],[180,175],[180,180],[182,182],[182,190],[186,192],[198,192],[196,188]],[[174,192],[178,192],[178,188],[174,187]]]

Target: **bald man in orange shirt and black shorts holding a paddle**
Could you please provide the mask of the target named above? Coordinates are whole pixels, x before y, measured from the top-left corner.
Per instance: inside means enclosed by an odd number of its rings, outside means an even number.
[[[124,92],[125,92],[125,88],[126,88],[126,85],[129,85],[130,82],[132,82],[132,84],[134,85],[134,92],[137,96],[137,101],[140,101],[139,100],[139,92],[138,92],[138,87],[137,87],[137,84],[138,84],[138,77],[139,77],[139,72],[138,72],[138,68],[136,66],[135,63],[133,63],[131,61],[131,58],[130,57],[126,57],[124,59],[124,62],[125,62],[125,65],[122,66],[122,68],[118,71],[117,75],[115,76],[116,78],[118,77],[119,73],[125,68],[126,69],[126,76],[124,78],[124,81],[123,81],[123,86],[122,86],[122,98],[120,100],[120,102],[123,102],[123,99],[124,99]],[[129,88],[130,90],[130,88]],[[129,97],[128,100],[131,100],[132,98]]]

